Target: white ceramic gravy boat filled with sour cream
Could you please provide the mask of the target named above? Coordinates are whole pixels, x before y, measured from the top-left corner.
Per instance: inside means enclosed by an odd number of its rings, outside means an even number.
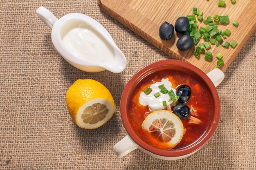
[[[126,67],[125,55],[96,20],[81,13],[70,13],[58,20],[45,7],[39,7],[36,14],[52,29],[52,43],[72,66],[87,72],[113,73]]]

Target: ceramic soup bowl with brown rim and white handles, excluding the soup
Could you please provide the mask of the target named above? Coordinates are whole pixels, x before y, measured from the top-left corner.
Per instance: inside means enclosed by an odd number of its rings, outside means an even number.
[[[206,132],[204,132],[204,134],[197,141],[189,146],[186,146],[185,148],[175,150],[162,150],[155,148],[141,140],[141,138],[132,129],[132,126],[129,122],[128,109],[133,89],[135,89],[136,85],[143,81],[146,76],[163,70],[180,71],[196,77],[200,80],[200,82],[202,82],[202,84],[206,86],[212,98],[213,111]],[[166,160],[175,160],[188,157],[189,155],[192,155],[198,151],[200,148],[202,148],[202,146],[204,146],[204,144],[207,143],[207,141],[209,141],[218,126],[220,120],[220,99],[216,90],[216,86],[218,86],[223,79],[224,73],[218,68],[215,68],[209,73],[205,74],[203,71],[193,66],[192,64],[178,60],[162,60],[141,68],[141,70],[135,73],[135,75],[133,75],[128,81],[121,96],[121,119],[128,135],[124,137],[124,139],[121,139],[121,141],[119,141],[114,146],[114,151],[117,156],[123,157],[132,150],[139,148],[153,157]]]

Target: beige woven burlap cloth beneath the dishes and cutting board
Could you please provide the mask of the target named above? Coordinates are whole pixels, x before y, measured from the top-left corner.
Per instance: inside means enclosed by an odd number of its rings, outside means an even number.
[[[85,13],[99,21],[127,57],[120,74],[86,73],[54,49],[51,30],[36,16],[45,6],[56,17]],[[135,150],[118,158],[113,146],[126,135],[119,113],[122,90],[142,66],[167,55],[102,12],[97,0],[0,1],[0,169],[253,170],[256,167],[255,32],[225,73],[218,92],[220,124],[213,138],[186,159],[163,161]],[[76,79],[104,84],[116,113],[95,130],[70,118],[67,89]]]

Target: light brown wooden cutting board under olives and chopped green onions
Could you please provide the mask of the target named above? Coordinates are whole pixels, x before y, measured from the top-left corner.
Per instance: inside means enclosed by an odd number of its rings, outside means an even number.
[[[226,71],[256,29],[256,0],[237,0],[236,4],[232,4],[230,0],[225,1],[226,7],[218,7],[218,0],[98,0],[98,4],[103,11],[164,53],[174,59],[189,62],[207,73],[216,68],[215,56],[219,52],[223,54],[225,63],[221,69],[223,72]],[[225,41],[235,40],[238,43],[236,48],[225,49],[222,46],[212,45],[209,51],[213,54],[213,60],[207,62],[204,60],[204,54],[201,53],[199,58],[193,55],[194,47],[188,51],[178,51],[176,42],[181,34],[174,33],[174,37],[169,41],[159,38],[159,26],[164,21],[174,25],[178,17],[192,14],[193,7],[203,11],[204,19],[210,15],[213,18],[216,14],[229,15],[230,23],[218,24],[218,29],[231,31],[231,35]],[[232,25],[233,21],[239,23],[237,28]],[[198,26],[206,25],[198,21]],[[203,38],[199,43],[202,42],[204,42]]]

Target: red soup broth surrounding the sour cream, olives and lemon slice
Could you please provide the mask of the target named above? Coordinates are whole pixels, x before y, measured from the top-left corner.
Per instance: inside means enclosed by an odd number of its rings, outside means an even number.
[[[172,83],[172,88],[174,89],[177,89],[180,85],[187,85],[191,88],[191,97],[185,105],[189,106],[189,108],[192,105],[193,108],[197,110],[197,118],[200,119],[202,123],[199,125],[189,124],[189,119],[181,119],[184,128],[186,128],[186,132],[180,143],[172,149],[186,148],[204,135],[209,126],[211,114],[213,113],[212,99],[207,87],[202,84],[199,79],[189,74],[179,71],[165,70],[152,73],[141,80],[131,95],[128,115],[130,124],[138,137],[147,144],[155,148],[170,150],[167,143],[159,141],[151,135],[150,132],[142,129],[141,127],[142,122],[150,113],[148,106],[142,106],[139,104],[139,95],[143,92],[143,89],[149,87],[154,83],[154,81],[160,82],[162,78],[168,78]]]

